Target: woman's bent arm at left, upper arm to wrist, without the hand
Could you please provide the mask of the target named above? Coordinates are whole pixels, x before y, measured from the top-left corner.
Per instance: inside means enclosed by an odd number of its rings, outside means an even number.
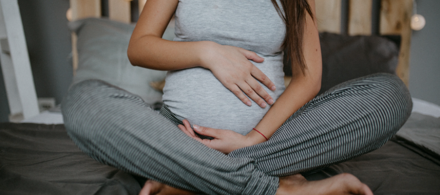
[[[147,1],[133,30],[127,55],[135,66],[156,70],[178,70],[203,66],[211,41],[178,42],[162,39],[176,11],[178,0]]]

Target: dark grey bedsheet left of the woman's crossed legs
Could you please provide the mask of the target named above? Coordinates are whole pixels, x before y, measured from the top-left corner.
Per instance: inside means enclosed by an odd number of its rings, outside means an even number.
[[[137,195],[129,174],[81,152],[64,125],[0,123],[0,195]]]

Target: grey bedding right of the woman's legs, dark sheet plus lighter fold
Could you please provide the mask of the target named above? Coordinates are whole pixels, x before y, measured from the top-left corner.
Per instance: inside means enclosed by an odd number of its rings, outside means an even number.
[[[413,113],[396,137],[380,149],[306,178],[351,173],[374,195],[440,195],[440,155],[432,148],[440,144],[439,135],[440,118]]]

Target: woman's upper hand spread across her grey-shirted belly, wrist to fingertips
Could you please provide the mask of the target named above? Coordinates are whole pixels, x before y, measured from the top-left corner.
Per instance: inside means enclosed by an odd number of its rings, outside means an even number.
[[[273,98],[257,80],[272,91],[276,89],[275,84],[249,61],[261,63],[264,61],[262,57],[240,47],[220,45],[212,41],[204,42],[206,49],[201,58],[202,67],[211,70],[214,76],[244,104],[251,106],[249,98],[262,108],[266,107],[266,102],[273,104]]]

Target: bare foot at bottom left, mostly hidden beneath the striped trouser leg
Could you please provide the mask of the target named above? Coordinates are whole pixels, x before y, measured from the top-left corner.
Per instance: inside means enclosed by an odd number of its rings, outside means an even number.
[[[139,195],[196,195],[196,193],[173,188],[157,181],[148,180]]]

